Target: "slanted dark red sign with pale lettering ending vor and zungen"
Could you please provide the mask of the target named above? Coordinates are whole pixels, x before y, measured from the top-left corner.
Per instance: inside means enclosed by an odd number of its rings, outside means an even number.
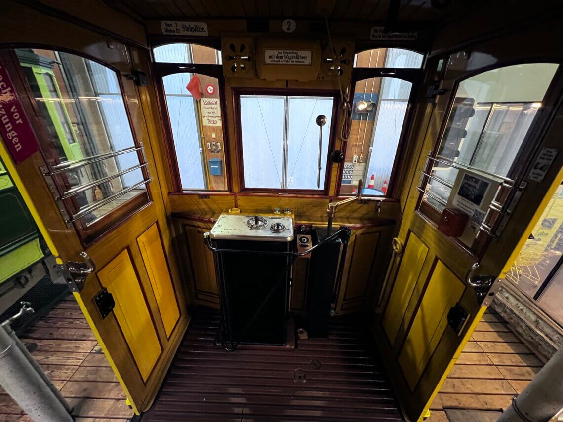
[[[21,163],[39,148],[33,129],[1,60],[0,135],[16,164]]]

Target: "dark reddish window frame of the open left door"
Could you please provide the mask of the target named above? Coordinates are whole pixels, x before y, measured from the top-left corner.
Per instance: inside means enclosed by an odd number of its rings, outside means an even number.
[[[97,62],[105,68],[113,71],[118,81],[119,93],[123,100],[129,129],[131,130],[133,146],[135,148],[143,146],[142,142],[138,140],[138,136],[135,131],[135,125],[133,125],[131,111],[129,110],[128,106],[128,97],[123,87],[122,73],[119,69],[115,68],[115,66],[109,64],[108,62],[100,60],[97,57],[92,57],[85,53],[74,51],[69,48],[62,48],[59,46],[37,43],[18,43],[10,46],[0,46],[0,59],[2,59],[2,61],[4,62],[6,70],[8,71],[8,74],[10,74],[12,83],[14,84],[14,88],[16,89],[16,92],[19,93],[19,98],[25,110],[25,113],[28,114],[31,120],[35,139],[37,140],[37,143],[39,145],[39,152],[41,153],[44,162],[47,164],[48,170],[52,170],[52,167],[54,165],[60,164],[61,161],[51,152],[51,147],[49,145],[49,143],[52,142],[51,134],[47,129],[47,125],[46,122],[44,122],[41,110],[38,106],[38,102],[35,100],[35,95],[32,92],[32,89],[30,88],[27,78],[24,74],[23,66],[20,64],[20,61],[15,52],[15,50],[25,48],[30,48],[33,50],[50,50],[53,52],[72,54],[74,56],[82,57],[86,60]],[[60,94],[60,89],[57,88],[57,91],[59,91]],[[65,113],[68,113],[68,110],[65,109]],[[148,162],[146,161],[145,155],[142,150],[138,149],[135,152],[137,154],[139,164]],[[111,158],[111,156],[109,156],[108,158]],[[145,166],[140,170],[144,180],[150,179],[148,166]],[[111,231],[115,230],[117,227],[128,221],[128,219],[132,218],[133,216],[153,204],[153,197],[151,194],[149,181],[145,182],[144,186],[145,190],[143,192],[139,192],[139,194],[131,197],[123,204],[119,204],[104,216],[96,219],[96,221],[91,223],[90,225],[87,225],[83,218],[78,219],[76,222],[72,223],[72,227],[74,228],[82,245],[84,247],[88,247],[93,243],[96,243],[96,241],[98,241],[101,237],[107,236]],[[59,195],[60,194],[61,192],[59,191]],[[77,206],[75,204],[73,206],[75,208],[74,212],[78,212]],[[69,213],[69,215],[72,215],[73,210],[69,209],[68,204],[64,203],[64,208]]]

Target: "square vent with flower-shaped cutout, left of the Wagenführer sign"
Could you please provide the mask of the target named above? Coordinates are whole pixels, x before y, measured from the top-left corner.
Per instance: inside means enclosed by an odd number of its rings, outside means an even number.
[[[225,78],[255,78],[254,41],[250,38],[224,38],[222,41]]]

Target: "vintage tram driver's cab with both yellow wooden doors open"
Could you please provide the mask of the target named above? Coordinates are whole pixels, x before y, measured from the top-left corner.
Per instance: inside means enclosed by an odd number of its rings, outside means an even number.
[[[427,417],[561,183],[558,6],[71,3],[0,17],[0,293],[141,420]]]

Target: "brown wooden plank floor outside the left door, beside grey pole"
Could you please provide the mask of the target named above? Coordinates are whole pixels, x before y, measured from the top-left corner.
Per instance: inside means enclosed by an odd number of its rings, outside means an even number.
[[[125,394],[78,304],[69,295],[20,336],[78,422],[124,422],[133,415]],[[0,389],[0,422],[31,421]]]

